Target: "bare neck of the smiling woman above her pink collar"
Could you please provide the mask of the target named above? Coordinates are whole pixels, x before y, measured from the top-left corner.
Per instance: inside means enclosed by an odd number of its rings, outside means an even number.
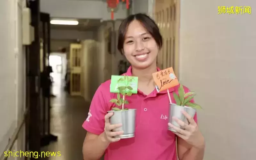
[[[151,65],[145,69],[132,68],[132,76],[137,76],[139,82],[150,83],[153,81],[152,74],[157,72],[156,65]]]

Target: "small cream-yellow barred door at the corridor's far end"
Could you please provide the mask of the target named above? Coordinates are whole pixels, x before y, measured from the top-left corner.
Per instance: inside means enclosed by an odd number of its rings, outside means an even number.
[[[82,45],[70,44],[69,52],[70,65],[70,94],[72,96],[81,96],[82,86]]]

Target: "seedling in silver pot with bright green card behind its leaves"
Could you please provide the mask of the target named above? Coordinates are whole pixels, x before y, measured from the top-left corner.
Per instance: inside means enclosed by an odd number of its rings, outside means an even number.
[[[136,109],[125,108],[125,104],[129,104],[126,100],[127,96],[137,94],[138,91],[138,77],[132,76],[112,76],[110,84],[110,92],[117,93],[116,98],[111,99],[110,102],[114,104],[112,110],[113,116],[110,117],[110,124],[122,124],[120,128],[114,129],[114,132],[124,131],[123,135],[118,138],[132,138],[135,136],[135,118]]]

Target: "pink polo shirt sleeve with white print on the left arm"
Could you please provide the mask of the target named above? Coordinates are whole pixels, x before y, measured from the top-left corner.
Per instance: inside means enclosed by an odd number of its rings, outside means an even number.
[[[102,84],[96,90],[89,108],[89,113],[82,127],[93,134],[100,135],[104,132],[105,115],[107,114],[107,102],[104,96],[104,87]]]

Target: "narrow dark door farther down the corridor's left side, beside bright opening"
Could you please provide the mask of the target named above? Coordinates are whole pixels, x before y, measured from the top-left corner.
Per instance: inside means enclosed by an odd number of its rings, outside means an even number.
[[[40,13],[40,117],[41,117],[41,146],[48,145],[52,140],[50,133],[50,108],[51,108],[51,78],[52,68],[49,66],[50,55],[50,14]]]

